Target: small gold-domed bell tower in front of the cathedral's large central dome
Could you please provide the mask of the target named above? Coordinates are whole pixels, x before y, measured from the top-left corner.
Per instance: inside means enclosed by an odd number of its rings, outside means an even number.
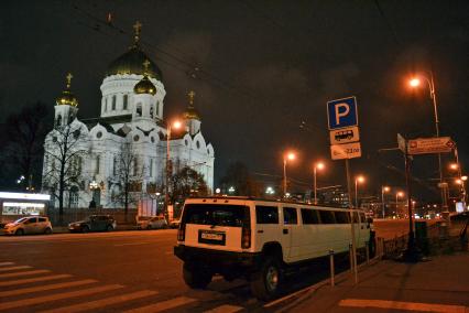
[[[135,84],[133,87],[133,112],[132,120],[154,120],[156,118],[156,109],[155,109],[155,95],[156,87],[149,79],[149,68],[150,62],[145,60],[143,66],[145,67],[145,72],[143,73],[143,78]]]

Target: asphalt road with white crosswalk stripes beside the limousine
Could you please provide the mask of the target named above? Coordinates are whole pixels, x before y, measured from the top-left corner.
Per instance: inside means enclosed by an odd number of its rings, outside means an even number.
[[[0,312],[265,310],[242,280],[216,277],[207,290],[188,289],[173,256],[175,238],[174,229],[2,236]],[[318,262],[291,279],[287,292],[325,278],[327,266]]]

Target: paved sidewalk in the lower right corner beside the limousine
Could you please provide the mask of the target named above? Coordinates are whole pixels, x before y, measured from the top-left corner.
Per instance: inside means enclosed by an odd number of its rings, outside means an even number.
[[[469,253],[426,262],[380,261],[309,291],[286,312],[466,312],[469,313]]]

